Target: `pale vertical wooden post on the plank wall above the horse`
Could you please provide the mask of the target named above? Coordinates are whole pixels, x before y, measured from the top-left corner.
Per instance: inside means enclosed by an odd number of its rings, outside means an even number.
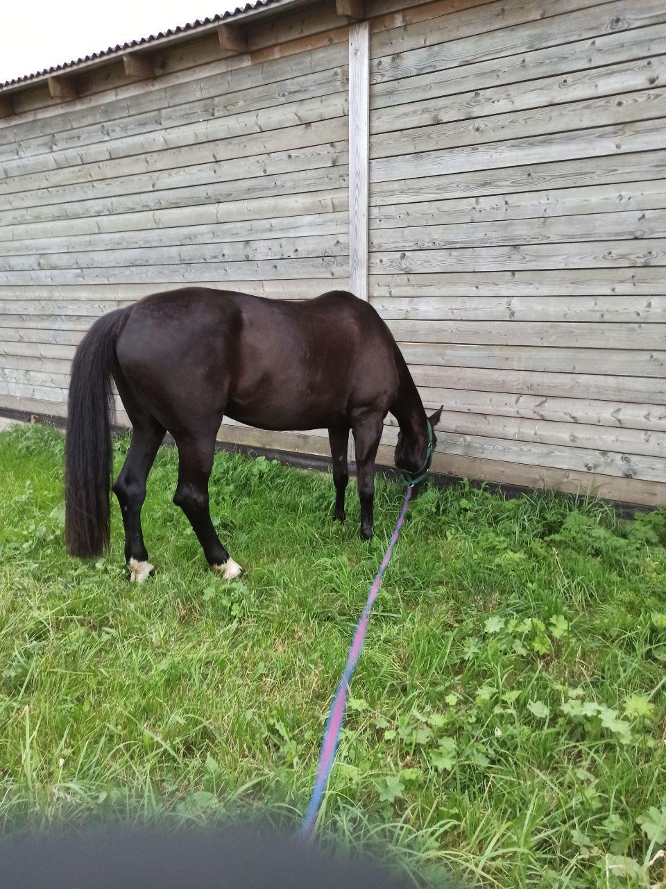
[[[349,289],[368,299],[369,25],[349,28]]]

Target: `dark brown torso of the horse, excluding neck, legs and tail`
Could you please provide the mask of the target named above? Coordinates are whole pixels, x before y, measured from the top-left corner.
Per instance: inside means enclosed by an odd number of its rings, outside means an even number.
[[[318,428],[398,385],[395,343],[367,302],[345,291],[312,300],[186,287],[135,303],[116,345],[137,390],[164,405],[210,404],[264,428]]]

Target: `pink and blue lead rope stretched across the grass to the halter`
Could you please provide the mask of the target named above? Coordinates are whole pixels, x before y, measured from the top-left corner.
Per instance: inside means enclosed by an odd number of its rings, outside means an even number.
[[[412,487],[413,485],[409,485],[407,491],[405,492],[405,501],[403,502],[402,509],[400,510],[400,517],[398,518],[398,521],[393,528],[391,541],[389,541],[388,548],[386,549],[384,558],[382,559],[382,564],[379,566],[379,571],[375,575],[375,580],[372,581],[372,586],[370,587],[370,591],[368,594],[368,601],[366,602],[363,613],[361,614],[361,619],[356,625],[356,629],[353,634],[352,645],[349,649],[349,654],[347,655],[345,672],[340,679],[340,685],[337,686],[336,696],[333,699],[333,704],[330,708],[329,719],[326,724],[326,729],[324,730],[323,741],[321,741],[317,774],[314,779],[313,795],[310,799],[310,805],[308,805],[307,807],[307,812],[305,813],[303,824],[301,825],[301,829],[299,831],[300,836],[305,837],[305,839],[308,840],[311,840],[314,837],[314,833],[317,827],[317,817],[321,808],[321,800],[324,796],[326,786],[329,783],[329,775],[331,769],[333,768],[333,762],[336,758],[337,745],[340,741],[340,733],[342,732],[343,723],[345,722],[345,709],[347,704],[347,697],[349,696],[349,685],[352,682],[353,671],[359,660],[363,642],[365,641],[365,634],[366,630],[368,629],[370,620],[370,611],[372,609],[372,606],[375,604],[377,593],[379,592],[379,588],[382,585],[382,575],[385,573],[386,566],[391,560],[393,545],[395,541],[398,540],[400,528],[402,527],[402,523],[405,521],[405,516],[407,515],[407,509],[409,505],[409,498],[412,495]]]

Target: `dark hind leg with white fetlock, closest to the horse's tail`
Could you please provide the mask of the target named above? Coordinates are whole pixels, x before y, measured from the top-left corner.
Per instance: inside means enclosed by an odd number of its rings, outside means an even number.
[[[162,444],[164,428],[148,412],[132,412],[131,445],[123,469],[116,478],[114,493],[120,503],[125,529],[125,562],[132,581],[145,581],[154,573],[148,562],[141,531],[141,507],[146,500],[146,481]]]

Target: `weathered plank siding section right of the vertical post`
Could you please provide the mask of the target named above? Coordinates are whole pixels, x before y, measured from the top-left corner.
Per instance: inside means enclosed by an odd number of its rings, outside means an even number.
[[[369,294],[437,468],[664,505],[666,6],[418,9],[370,22]]]

